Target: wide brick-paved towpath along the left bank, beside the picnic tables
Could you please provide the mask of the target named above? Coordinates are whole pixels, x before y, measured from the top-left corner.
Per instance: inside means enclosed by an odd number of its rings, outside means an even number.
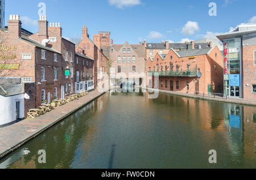
[[[0,158],[13,152],[21,145],[103,94],[95,90],[90,92],[89,95],[80,97],[79,100],[69,102],[40,117],[24,119],[11,126],[0,128]]]

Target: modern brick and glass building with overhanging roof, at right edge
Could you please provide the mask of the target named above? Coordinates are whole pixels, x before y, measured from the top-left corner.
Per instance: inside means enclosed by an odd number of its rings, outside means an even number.
[[[217,36],[224,44],[224,94],[256,100],[256,25],[239,25]]]

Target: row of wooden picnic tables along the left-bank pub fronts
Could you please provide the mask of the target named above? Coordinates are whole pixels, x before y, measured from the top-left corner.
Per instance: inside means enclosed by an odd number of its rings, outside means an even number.
[[[58,108],[59,106],[67,104],[71,101],[78,100],[80,97],[86,96],[88,94],[89,94],[88,91],[82,91],[77,94],[67,96],[65,98],[60,98],[60,99],[54,100],[51,103],[44,104],[42,106],[39,106],[36,109],[30,109],[30,110],[28,110],[27,118],[39,117],[40,115],[50,112],[52,109]]]

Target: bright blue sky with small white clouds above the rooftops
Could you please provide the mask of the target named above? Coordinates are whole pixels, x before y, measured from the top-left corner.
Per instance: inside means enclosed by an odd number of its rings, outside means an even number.
[[[197,40],[256,23],[255,0],[6,0],[6,25],[10,14],[19,14],[23,28],[38,32],[40,2],[48,22],[61,23],[64,37],[80,37],[85,24],[91,38],[111,31],[114,44]],[[217,16],[209,16],[210,2]]]

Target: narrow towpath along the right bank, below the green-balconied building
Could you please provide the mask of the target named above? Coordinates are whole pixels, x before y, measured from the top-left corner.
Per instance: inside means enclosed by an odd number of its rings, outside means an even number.
[[[146,88],[146,89],[156,90],[156,89],[152,89],[152,88]],[[208,95],[205,95],[205,96],[192,95],[192,94],[187,94],[187,93],[182,93],[182,92],[166,91],[166,90],[162,90],[162,89],[159,89],[159,92],[166,93],[169,95],[199,98],[202,100],[212,100],[212,101],[230,102],[230,103],[235,103],[235,104],[245,104],[245,105],[256,106],[256,101],[248,101],[248,100],[244,100],[242,98],[228,98],[228,99],[226,99],[225,97],[215,97],[214,98],[213,95],[211,95],[212,97],[208,97]]]

